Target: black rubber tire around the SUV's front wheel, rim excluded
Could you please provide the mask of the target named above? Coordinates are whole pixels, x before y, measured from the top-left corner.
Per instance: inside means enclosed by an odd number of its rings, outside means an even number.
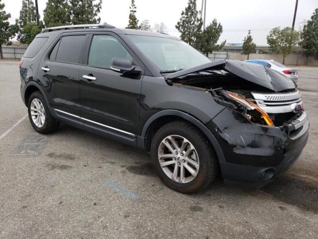
[[[159,145],[169,135],[179,135],[186,138],[197,151],[199,170],[191,182],[175,182],[161,169],[158,159]],[[161,181],[169,188],[181,193],[194,193],[203,190],[214,181],[219,172],[219,162],[211,143],[198,128],[186,121],[167,123],[156,132],[151,145],[151,159]]]

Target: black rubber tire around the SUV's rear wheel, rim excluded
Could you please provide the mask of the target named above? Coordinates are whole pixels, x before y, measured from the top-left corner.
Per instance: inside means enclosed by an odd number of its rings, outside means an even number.
[[[31,116],[31,102],[34,99],[39,99],[40,102],[43,104],[43,108],[45,111],[45,121],[42,127],[37,127],[35,125],[35,123],[33,122],[32,116]],[[46,104],[45,98],[43,97],[43,95],[39,92],[33,92],[29,98],[29,102],[28,102],[28,114],[29,114],[29,120],[31,122],[32,127],[35,129],[35,131],[37,131],[38,133],[51,133],[53,131],[55,131],[58,126],[60,125],[60,122],[56,119],[54,119],[51,115],[51,112],[49,110],[48,105]]]

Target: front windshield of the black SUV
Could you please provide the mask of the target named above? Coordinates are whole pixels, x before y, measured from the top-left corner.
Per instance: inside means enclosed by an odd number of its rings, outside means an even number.
[[[161,72],[179,71],[211,62],[180,40],[141,35],[131,35],[130,38]]]

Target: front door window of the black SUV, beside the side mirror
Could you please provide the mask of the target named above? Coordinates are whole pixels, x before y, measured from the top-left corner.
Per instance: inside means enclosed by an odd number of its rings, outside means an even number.
[[[109,68],[114,57],[133,60],[123,45],[113,36],[94,35],[91,41],[88,65]]]

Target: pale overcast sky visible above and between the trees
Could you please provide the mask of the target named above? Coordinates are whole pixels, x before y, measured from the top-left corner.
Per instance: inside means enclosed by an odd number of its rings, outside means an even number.
[[[10,22],[19,17],[22,0],[2,0],[4,10],[11,13]],[[43,10],[47,0],[38,0],[39,13],[43,19]],[[148,19],[153,26],[163,22],[168,34],[179,37],[175,24],[188,0],[135,0],[137,18],[141,22]],[[201,9],[202,0],[197,0],[197,8]],[[266,35],[277,26],[292,26],[296,0],[207,0],[206,25],[216,18],[223,26],[220,42],[242,43],[251,30],[256,45],[267,45]],[[103,0],[99,13],[101,22],[107,22],[119,28],[128,24],[131,0]],[[314,10],[318,8],[318,0],[299,0],[295,29],[303,28]]]

